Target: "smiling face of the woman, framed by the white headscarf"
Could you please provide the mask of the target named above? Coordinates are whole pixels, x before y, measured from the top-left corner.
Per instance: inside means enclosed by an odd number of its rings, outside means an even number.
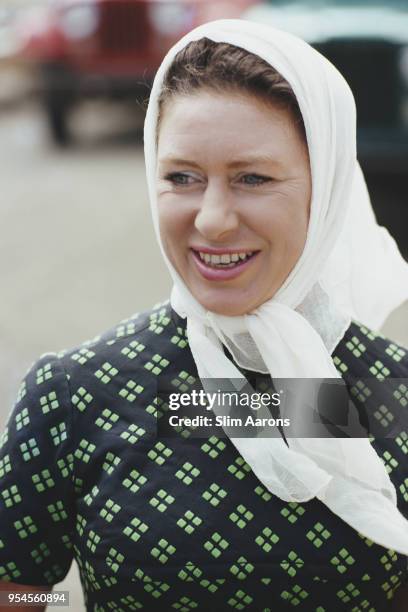
[[[308,151],[288,111],[206,90],[166,102],[160,234],[204,308],[242,315],[276,293],[303,251],[310,199]]]

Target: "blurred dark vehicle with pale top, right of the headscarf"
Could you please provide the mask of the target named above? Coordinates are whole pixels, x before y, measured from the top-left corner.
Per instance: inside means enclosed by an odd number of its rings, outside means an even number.
[[[246,19],[296,34],[346,77],[367,169],[408,173],[407,0],[269,0]]]

